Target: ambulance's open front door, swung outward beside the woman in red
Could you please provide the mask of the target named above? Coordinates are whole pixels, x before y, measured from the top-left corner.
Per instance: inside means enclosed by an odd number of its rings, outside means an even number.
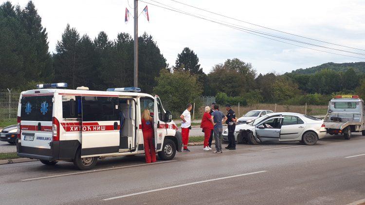
[[[163,141],[163,135],[166,128],[166,122],[163,121],[164,110],[162,108],[160,98],[155,95],[155,102],[153,106],[153,122],[155,131],[155,149],[156,151],[161,150]]]

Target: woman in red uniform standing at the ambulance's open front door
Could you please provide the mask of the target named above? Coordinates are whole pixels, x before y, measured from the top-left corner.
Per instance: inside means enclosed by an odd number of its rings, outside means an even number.
[[[142,133],[145,146],[146,163],[156,162],[155,143],[152,142],[154,135],[153,120],[149,110],[145,109],[142,113]]]

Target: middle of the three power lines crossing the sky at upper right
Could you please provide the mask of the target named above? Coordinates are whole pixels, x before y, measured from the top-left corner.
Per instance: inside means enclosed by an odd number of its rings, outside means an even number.
[[[171,7],[171,6],[166,5],[164,3],[158,2],[156,0],[151,0],[151,1],[156,2],[156,3],[159,3],[159,4],[162,4],[162,5],[167,6],[167,7],[170,7],[172,9],[174,9],[174,10],[177,10],[177,11],[180,11],[180,12],[183,12],[183,13],[186,13],[186,14],[189,14],[189,13],[187,13],[185,11],[182,11],[180,9],[176,9],[174,7]],[[197,14],[192,14],[192,15],[198,16]],[[199,16],[206,17],[206,16],[203,16],[203,15],[199,15]],[[211,18],[211,17],[207,17],[207,18]],[[211,19],[214,19],[214,18],[211,18]],[[283,37],[283,36],[279,36],[279,35],[275,35],[275,34],[270,34],[270,33],[258,31],[258,30],[255,30],[255,29],[247,28],[247,27],[243,27],[241,25],[233,24],[233,23],[230,23],[230,22],[222,21],[222,20],[217,20],[217,19],[214,19],[214,20],[220,21],[220,22],[224,22],[224,23],[227,23],[229,25],[235,25],[235,26],[237,26],[240,29],[243,29],[243,30],[246,30],[246,31],[249,31],[249,32],[253,32],[253,33],[256,33],[256,34],[268,35],[268,36],[275,37],[275,38],[280,38],[280,39],[283,39],[283,40],[293,41],[293,42],[297,42],[297,43],[302,43],[302,44],[306,44],[306,45],[310,45],[310,46],[316,46],[316,47],[320,47],[320,48],[330,49],[330,50],[334,50],[334,51],[342,51],[342,52],[347,52],[347,53],[352,53],[352,54],[357,54],[357,55],[365,55],[364,53],[353,52],[353,51],[345,51],[345,50],[335,49],[335,48],[329,48],[329,47],[326,47],[326,46],[321,46],[321,45],[312,44],[312,43],[308,43],[308,42],[304,42],[304,41],[300,41],[300,40],[296,40],[296,39],[292,39],[292,38],[287,38],[287,37]]]

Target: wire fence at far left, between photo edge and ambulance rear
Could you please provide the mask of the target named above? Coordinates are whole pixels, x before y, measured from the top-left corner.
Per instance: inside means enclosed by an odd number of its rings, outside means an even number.
[[[18,114],[19,92],[0,92],[0,120],[16,119]]]

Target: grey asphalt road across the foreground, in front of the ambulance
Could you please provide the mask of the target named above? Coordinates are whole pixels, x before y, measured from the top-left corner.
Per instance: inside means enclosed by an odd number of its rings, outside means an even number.
[[[155,164],[144,155],[107,158],[89,172],[69,162],[0,165],[0,204],[346,205],[365,198],[364,147],[354,134],[222,154],[194,146]]]

